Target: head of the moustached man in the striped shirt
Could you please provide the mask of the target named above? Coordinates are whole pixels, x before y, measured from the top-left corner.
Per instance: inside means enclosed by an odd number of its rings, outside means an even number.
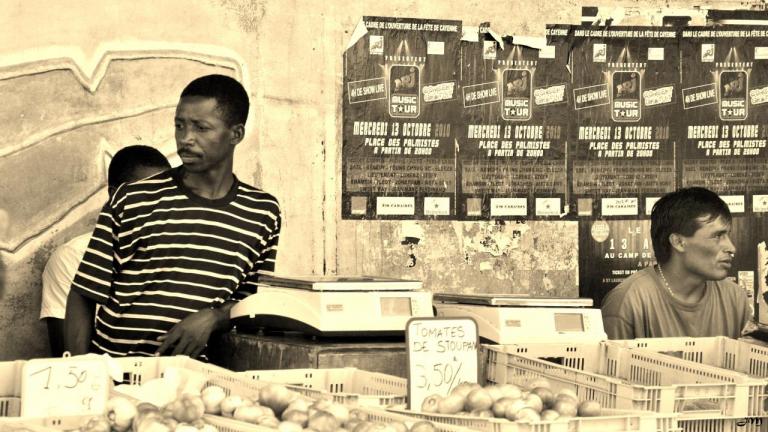
[[[245,136],[248,93],[234,78],[206,75],[181,92],[176,107],[176,146],[191,172],[231,169],[234,148]]]

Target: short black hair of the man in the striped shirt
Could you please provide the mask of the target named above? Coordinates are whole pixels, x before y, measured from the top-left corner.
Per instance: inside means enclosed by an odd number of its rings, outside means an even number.
[[[229,124],[245,125],[248,119],[248,93],[236,79],[226,75],[206,75],[194,79],[181,92],[181,97],[200,96],[216,99],[222,118]]]

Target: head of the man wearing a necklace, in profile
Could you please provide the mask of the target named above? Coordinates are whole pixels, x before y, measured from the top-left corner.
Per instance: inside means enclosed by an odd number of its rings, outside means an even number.
[[[727,276],[736,248],[731,242],[731,212],[716,193],[691,187],[664,195],[653,206],[651,239],[660,264],[673,255],[709,280]]]

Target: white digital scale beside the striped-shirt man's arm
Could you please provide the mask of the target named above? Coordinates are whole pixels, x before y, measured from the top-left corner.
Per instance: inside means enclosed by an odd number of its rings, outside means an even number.
[[[412,317],[431,317],[421,282],[380,277],[261,277],[258,292],[236,304],[238,330],[300,331],[315,336],[402,336]]]

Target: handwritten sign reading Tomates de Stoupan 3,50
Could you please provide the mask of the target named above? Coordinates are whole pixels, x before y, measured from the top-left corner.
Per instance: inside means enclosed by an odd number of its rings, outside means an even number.
[[[477,382],[477,323],[471,318],[413,318],[406,325],[408,403],[419,410],[432,394],[445,396]]]

